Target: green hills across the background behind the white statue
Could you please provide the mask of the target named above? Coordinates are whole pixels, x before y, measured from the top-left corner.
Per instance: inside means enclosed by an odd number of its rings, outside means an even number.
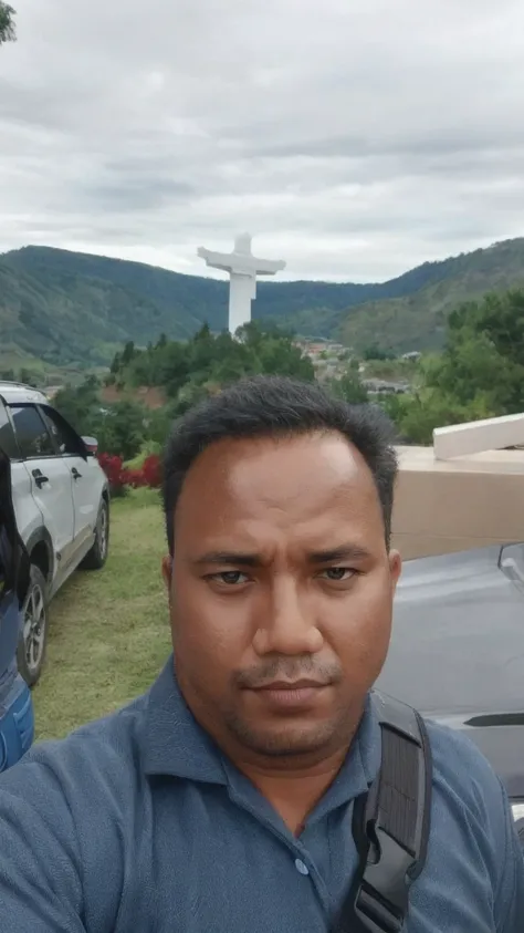
[[[407,351],[439,346],[461,301],[524,284],[524,239],[426,262],[388,282],[261,282],[255,319],[304,336]],[[51,363],[108,362],[128,340],[184,340],[227,325],[227,281],[30,246],[0,256],[0,346]]]

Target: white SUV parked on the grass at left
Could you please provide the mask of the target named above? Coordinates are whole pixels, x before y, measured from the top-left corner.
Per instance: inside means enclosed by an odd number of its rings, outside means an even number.
[[[11,460],[14,511],[31,560],[19,671],[40,677],[51,598],[77,567],[97,570],[107,558],[109,488],[82,438],[41,392],[0,381],[0,447]]]

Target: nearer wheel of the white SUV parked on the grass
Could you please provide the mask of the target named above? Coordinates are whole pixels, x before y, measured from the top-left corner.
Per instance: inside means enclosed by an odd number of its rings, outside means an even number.
[[[35,563],[30,568],[30,584],[22,608],[23,628],[17,663],[28,686],[39,681],[45,661],[49,626],[49,591],[45,577]]]

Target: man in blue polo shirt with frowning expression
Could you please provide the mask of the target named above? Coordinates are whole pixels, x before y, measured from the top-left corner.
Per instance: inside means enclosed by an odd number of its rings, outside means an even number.
[[[374,410],[316,386],[245,381],[182,419],[165,465],[175,662],[0,779],[1,931],[334,929],[354,801],[380,766],[395,475]],[[431,831],[404,929],[522,933],[501,784],[464,739],[428,733]]]

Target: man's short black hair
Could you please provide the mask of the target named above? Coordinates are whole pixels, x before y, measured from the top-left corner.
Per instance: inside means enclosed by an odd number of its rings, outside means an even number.
[[[164,460],[164,509],[170,553],[178,498],[199,454],[228,438],[282,437],[318,431],[343,435],[363,455],[375,479],[389,547],[397,476],[389,418],[375,405],[349,405],[333,397],[318,383],[253,376],[210,396],[174,425]]]

